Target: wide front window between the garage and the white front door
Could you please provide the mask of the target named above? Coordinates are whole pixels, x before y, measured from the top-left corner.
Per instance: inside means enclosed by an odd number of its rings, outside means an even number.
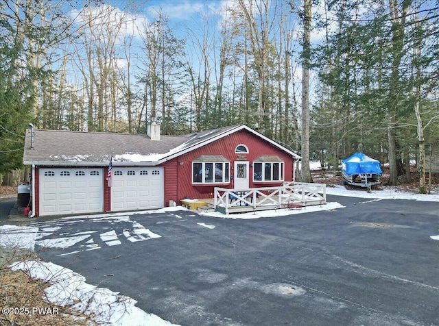
[[[230,182],[230,162],[222,155],[200,155],[192,162],[193,184]]]

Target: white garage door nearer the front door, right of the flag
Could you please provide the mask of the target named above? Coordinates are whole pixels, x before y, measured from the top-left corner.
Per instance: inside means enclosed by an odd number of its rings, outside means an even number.
[[[111,210],[163,208],[163,168],[112,167]]]

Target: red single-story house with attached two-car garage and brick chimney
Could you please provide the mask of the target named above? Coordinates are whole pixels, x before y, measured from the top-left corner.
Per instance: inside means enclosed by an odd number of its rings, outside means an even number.
[[[237,125],[185,136],[27,129],[36,216],[163,208],[213,197],[215,187],[247,189],[294,181],[300,157]],[[110,178],[108,167],[112,162]]]

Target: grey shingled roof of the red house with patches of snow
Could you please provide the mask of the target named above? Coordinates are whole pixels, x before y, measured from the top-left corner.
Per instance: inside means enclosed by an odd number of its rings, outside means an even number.
[[[270,142],[278,149],[292,155],[294,159],[300,158],[293,151],[289,151],[250,127],[237,125],[184,136],[161,136],[161,140],[151,140],[145,134],[34,129],[33,149],[30,148],[31,130],[27,129],[23,163],[104,166],[112,157],[115,165],[154,166],[242,129]]]

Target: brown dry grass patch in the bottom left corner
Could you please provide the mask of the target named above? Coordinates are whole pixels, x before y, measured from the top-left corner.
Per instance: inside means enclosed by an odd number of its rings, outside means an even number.
[[[47,284],[24,271],[11,271],[16,261],[34,259],[32,251],[1,248],[0,325],[95,325],[89,316],[45,301]],[[4,310],[5,308],[6,311]],[[15,308],[15,309],[14,309]],[[39,311],[36,310],[39,308]],[[9,310],[9,311],[8,311]],[[12,312],[12,314],[8,314]]]

